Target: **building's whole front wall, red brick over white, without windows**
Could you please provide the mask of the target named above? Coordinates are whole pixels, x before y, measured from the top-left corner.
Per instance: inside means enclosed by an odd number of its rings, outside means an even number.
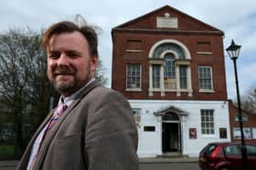
[[[156,21],[159,17],[168,21],[172,17],[176,19],[177,25],[157,27]],[[223,35],[224,33],[219,29],[170,6],[164,6],[112,29],[112,88],[127,97],[133,109],[141,109],[138,125],[140,157],[164,154],[162,150],[163,117],[169,113],[163,113],[164,115],[155,115],[155,113],[168,107],[176,107],[187,113],[183,111],[176,113],[180,121],[182,155],[198,156],[199,151],[209,142],[230,141]],[[184,91],[179,91],[178,88],[174,91],[164,89],[163,93],[162,83],[161,91],[157,91],[158,89],[151,91],[152,69],[150,68],[152,68],[151,65],[155,65],[152,62],[157,62],[157,59],[152,61],[151,55],[156,49],[155,46],[161,42],[174,42],[186,53],[182,61],[184,63],[177,64],[180,58],[176,58],[175,65],[176,68],[187,65],[190,74],[187,75],[187,82],[191,82],[188,84],[191,88],[189,86],[183,89]],[[160,75],[163,82],[164,60],[158,59],[160,64],[157,65],[161,65],[162,75]],[[141,86],[136,90],[126,88],[126,65],[132,64],[141,65]],[[198,66],[211,66],[212,91],[200,91]],[[177,79],[176,76],[176,81],[179,81]],[[176,85],[178,86],[177,82]],[[212,135],[201,133],[202,109],[214,110],[214,134]],[[145,127],[151,130],[147,131]],[[191,138],[190,133],[195,130],[197,137]],[[220,137],[223,132],[225,137],[223,135]]]

